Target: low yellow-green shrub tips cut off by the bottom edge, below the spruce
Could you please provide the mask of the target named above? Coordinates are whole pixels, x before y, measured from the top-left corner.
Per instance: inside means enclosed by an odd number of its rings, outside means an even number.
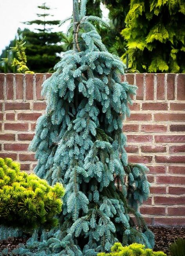
[[[152,249],[145,249],[145,245],[132,243],[128,246],[122,246],[121,243],[115,243],[111,247],[110,253],[101,252],[97,256],[167,256],[164,252],[154,252]]]

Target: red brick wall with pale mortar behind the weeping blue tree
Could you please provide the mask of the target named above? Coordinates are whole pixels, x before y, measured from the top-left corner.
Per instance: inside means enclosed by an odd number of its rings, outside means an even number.
[[[0,157],[32,171],[27,152],[45,109],[41,84],[49,74],[0,74]],[[148,224],[185,225],[185,74],[127,74],[137,84],[131,117],[124,123],[130,162],[145,163],[151,196],[141,207]]]

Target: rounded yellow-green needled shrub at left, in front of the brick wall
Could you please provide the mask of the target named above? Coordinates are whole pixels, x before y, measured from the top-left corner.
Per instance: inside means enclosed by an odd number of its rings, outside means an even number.
[[[35,174],[20,171],[20,164],[0,158],[0,224],[34,228],[57,225],[64,188],[48,185]]]

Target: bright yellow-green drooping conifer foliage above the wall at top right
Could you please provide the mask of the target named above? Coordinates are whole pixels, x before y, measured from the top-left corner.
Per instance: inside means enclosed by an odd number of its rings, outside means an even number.
[[[131,0],[125,22],[121,34],[128,42],[129,68],[185,72],[184,0]]]

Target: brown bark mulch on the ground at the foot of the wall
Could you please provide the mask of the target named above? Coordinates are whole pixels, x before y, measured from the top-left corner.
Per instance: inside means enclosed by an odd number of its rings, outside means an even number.
[[[185,238],[185,227],[149,227],[155,234],[154,251],[163,251],[168,254],[169,245],[178,237]],[[28,238],[8,238],[0,240],[0,252],[8,248],[9,252],[17,248],[19,243],[26,243]]]

